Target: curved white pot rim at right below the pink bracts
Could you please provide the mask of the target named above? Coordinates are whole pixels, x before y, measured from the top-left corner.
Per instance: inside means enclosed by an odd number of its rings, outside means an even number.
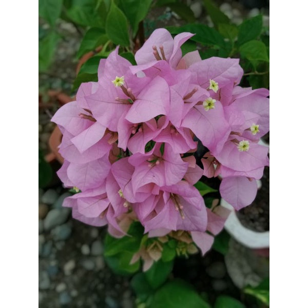
[[[220,205],[231,211],[224,227],[233,238],[248,248],[258,249],[269,247],[269,231],[255,232],[244,227],[238,219],[232,205],[224,199],[221,199]]]

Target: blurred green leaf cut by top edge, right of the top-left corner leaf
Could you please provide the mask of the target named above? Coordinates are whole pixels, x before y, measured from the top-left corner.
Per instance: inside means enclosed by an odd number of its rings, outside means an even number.
[[[65,13],[76,24],[105,27],[107,11],[101,0],[69,0]]]

